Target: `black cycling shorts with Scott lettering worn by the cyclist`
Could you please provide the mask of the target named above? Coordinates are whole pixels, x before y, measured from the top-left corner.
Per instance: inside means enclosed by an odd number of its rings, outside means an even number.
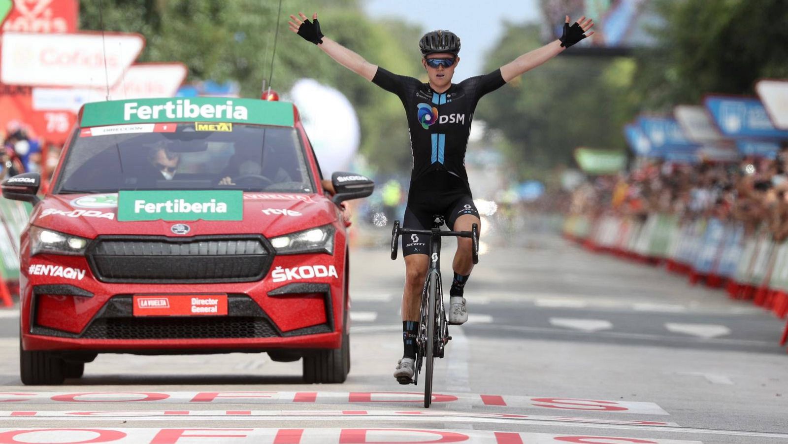
[[[411,184],[407,196],[403,228],[432,229],[436,215],[441,215],[449,229],[462,215],[479,217],[470,189],[459,177],[444,171],[429,173],[427,180]],[[429,186],[428,186],[429,185]],[[403,234],[403,256],[429,254],[429,238],[424,234]]]

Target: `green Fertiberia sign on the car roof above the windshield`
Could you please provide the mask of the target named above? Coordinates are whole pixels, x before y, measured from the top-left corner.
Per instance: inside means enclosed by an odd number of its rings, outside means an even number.
[[[225,97],[113,100],[86,103],[80,126],[177,121],[292,126],[293,106],[287,102]]]

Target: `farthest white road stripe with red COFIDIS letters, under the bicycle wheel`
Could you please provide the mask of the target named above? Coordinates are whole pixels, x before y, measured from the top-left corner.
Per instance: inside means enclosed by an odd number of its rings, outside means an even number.
[[[332,404],[332,405],[419,405],[422,392],[0,392],[0,403],[125,403],[140,404]],[[667,415],[652,402],[604,401],[571,397],[523,397],[488,394],[433,394],[433,405],[458,407],[508,407],[558,411]],[[2,442],[0,442],[2,444]]]

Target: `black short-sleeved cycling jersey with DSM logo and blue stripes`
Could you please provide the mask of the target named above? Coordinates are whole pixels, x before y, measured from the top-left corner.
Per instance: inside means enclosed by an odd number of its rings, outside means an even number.
[[[420,177],[436,170],[448,171],[467,185],[465,151],[470,121],[481,96],[506,84],[500,69],[452,84],[442,94],[433,91],[429,83],[422,84],[418,79],[398,76],[381,67],[372,81],[398,95],[405,106],[413,152],[411,188]]]

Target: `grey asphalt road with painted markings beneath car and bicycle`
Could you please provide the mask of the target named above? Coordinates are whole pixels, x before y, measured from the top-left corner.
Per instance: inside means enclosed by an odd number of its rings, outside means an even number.
[[[529,245],[481,257],[429,411],[422,386],[392,378],[404,267],[385,247],[352,252],[343,385],[306,385],[300,363],[239,353],[102,355],[82,379],[21,386],[17,318],[2,312],[0,444],[788,442],[782,321],[557,237]]]

